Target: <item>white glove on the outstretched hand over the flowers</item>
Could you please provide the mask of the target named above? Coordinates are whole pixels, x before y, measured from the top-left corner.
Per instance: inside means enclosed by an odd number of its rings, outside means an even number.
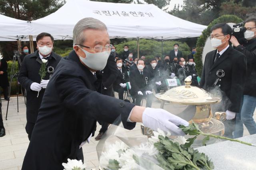
[[[142,115],[142,123],[154,131],[170,131],[172,135],[185,135],[178,125],[188,126],[189,123],[180,117],[169,113],[164,109],[154,109],[147,107]]]

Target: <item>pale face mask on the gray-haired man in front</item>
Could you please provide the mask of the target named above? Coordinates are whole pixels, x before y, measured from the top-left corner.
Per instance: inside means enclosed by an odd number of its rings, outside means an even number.
[[[79,47],[79,46],[78,46]],[[81,47],[79,47],[82,49]],[[89,53],[88,51],[82,49],[86,57],[80,57],[80,60],[89,68],[93,70],[103,70],[107,64],[110,51],[103,51],[101,53]]]

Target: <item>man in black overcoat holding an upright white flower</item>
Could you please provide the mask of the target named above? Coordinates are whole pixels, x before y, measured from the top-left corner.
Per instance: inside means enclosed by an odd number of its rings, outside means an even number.
[[[59,55],[52,51],[53,41],[54,39],[49,33],[40,33],[36,37],[38,50],[32,54],[26,55],[20,67],[18,81],[27,92],[26,132],[28,133],[29,140],[36,123],[38,109],[42,102],[45,88],[61,59]],[[41,67],[43,58],[47,59],[48,62],[46,63],[46,76],[44,76],[43,80],[40,80],[39,69]]]

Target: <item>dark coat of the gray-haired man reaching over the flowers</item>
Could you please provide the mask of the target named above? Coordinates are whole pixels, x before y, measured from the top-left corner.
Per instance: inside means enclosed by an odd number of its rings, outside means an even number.
[[[76,158],[96,120],[113,123],[120,115],[124,128],[135,127],[127,122],[135,105],[102,95],[100,89],[101,79],[74,51],[60,61],[44,93],[22,170],[63,170],[62,162]]]

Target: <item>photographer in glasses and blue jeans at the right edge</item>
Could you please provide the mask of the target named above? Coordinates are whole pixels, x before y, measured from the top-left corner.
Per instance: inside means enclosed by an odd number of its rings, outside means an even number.
[[[236,117],[236,131],[234,138],[243,136],[243,123],[248,129],[250,135],[256,133],[256,123],[253,119],[254,110],[256,107],[256,18],[249,18],[245,21],[244,38],[247,40],[245,44],[240,44],[235,36],[232,36],[230,42],[234,48],[242,52],[247,59],[247,74],[244,87],[244,96],[242,107]]]

